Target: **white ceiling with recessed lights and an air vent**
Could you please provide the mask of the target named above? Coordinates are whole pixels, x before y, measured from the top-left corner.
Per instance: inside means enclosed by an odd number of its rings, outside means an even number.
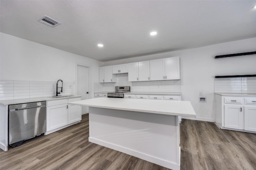
[[[99,61],[256,37],[256,0],[1,0],[0,31]],[[47,15],[61,24],[37,20]],[[150,31],[158,34],[150,36]],[[104,47],[97,47],[103,43]]]

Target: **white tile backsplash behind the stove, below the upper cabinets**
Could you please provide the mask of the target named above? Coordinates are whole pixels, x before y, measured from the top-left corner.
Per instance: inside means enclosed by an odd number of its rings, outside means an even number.
[[[116,83],[94,83],[94,92],[114,91],[115,86],[130,86],[131,92],[181,92],[181,80],[128,82],[128,73],[116,74]]]

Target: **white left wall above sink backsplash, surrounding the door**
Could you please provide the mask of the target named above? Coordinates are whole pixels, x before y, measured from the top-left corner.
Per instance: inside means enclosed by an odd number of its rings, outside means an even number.
[[[94,97],[93,84],[98,82],[102,62],[5,33],[0,33],[0,49],[0,80],[75,83],[75,64],[86,64],[90,66],[90,98]]]

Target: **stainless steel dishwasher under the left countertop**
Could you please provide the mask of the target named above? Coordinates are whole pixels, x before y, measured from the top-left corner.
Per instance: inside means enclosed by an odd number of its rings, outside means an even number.
[[[9,145],[20,146],[26,139],[46,132],[46,102],[9,105]]]

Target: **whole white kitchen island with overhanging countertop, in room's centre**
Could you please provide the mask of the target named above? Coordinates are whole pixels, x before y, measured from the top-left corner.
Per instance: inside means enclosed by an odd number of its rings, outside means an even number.
[[[68,104],[89,106],[90,142],[180,169],[178,116],[196,117],[190,102],[94,98]]]

